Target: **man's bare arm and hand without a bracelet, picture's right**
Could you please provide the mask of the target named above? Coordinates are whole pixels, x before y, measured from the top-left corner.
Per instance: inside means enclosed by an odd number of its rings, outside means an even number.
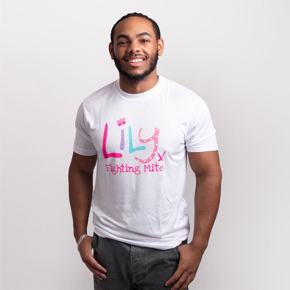
[[[192,241],[179,246],[180,260],[177,270],[166,282],[175,282],[172,290],[186,289],[193,281],[202,255],[208,245],[211,229],[218,213],[222,172],[218,151],[188,152],[191,169],[195,173],[194,230]]]

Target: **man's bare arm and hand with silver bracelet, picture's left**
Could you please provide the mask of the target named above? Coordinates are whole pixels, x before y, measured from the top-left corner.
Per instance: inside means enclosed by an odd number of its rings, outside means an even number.
[[[70,207],[73,215],[73,228],[76,242],[87,233],[88,218],[93,195],[93,172],[97,155],[84,156],[73,153],[68,171]],[[101,280],[107,270],[94,259],[91,246],[92,237],[87,236],[79,245],[81,259]]]

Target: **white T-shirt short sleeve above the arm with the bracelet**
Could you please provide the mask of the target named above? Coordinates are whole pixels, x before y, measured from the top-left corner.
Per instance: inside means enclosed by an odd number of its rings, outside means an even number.
[[[86,126],[83,103],[77,111],[75,121],[75,144],[73,151],[80,155],[92,156],[97,154],[97,150]]]

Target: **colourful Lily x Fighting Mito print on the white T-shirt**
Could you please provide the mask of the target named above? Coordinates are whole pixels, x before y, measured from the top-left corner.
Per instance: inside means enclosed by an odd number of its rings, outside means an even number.
[[[122,126],[122,125],[126,124],[125,119],[126,118],[119,118],[119,120],[116,121],[118,126]],[[155,164],[152,163],[152,164],[145,165],[146,163],[152,162],[153,158],[155,157],[155,155],[157,153],[159,129],[155,128],[153,135],[151,137],[149,137],[148,139],[141,138],[141,131],[142,131],[142,128],[140,128],[139,134],[138,134],[139,142],[146,144],[146,143],[149,143],[152,141],[152,142],[154,142],[154,149],[148,158],[142,159],[139,157],[134,157],[135,160],[137,160],[140,163],[144,163],[144,172],[163,171],[164,167],[160,166],[157,162]],[[110,157],[122,158],[122,153],[117,153],[117,152],[108,153],[107,152],[107,150],[106,150],[107,136],[108,136],[108,123],[105,124],[104,136],[103,136],[102,150],[103,150],[104,158],[105,159],[110,158]],[[129,137],[129,148],[128,148],[129,154],[134,153],[136,151],[142,151],[142,150],[146,149],[146,146],[133,147],[132,128],[130,125],[128,126],[128,137]],[[125,148],[125,132],[124,132],[124,129],[122,129],[121,130],[120,150],[124,150],[124,148]],[[162,156],[160,155],[160,153],[158,153],[158,156],[159,156],[158,162],[163,161],[164,154],[165,154],[165,151],[164,151]],[[106,164],[106,171],[111,171],[114,175],[117,174],[118,172],[120,172],[120,173],[133,172],[135,174],[140,174],[141,171],[139,170],[139,167],[140,166],[135,166],[135,168],[134,168],[133,166],[129,166],[128,164],[124,165],[123,163],[116,164],[116,166],[114,166],[112,164]]]

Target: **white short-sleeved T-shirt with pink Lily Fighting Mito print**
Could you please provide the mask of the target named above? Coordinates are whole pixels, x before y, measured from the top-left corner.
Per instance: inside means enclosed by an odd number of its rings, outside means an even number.
[[[135,95],[117,80],[83,101],[76,129],[74,151],[98,155],[95,233],[156,249],[185,240],[186,150],[218,150],[205,102],[161,76],[151,90]]]

